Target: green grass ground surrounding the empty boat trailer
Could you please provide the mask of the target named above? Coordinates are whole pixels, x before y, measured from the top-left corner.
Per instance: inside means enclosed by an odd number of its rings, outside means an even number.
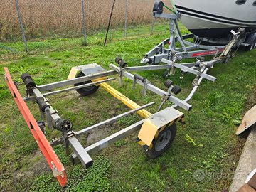
[[[22,73],[30,73],[37,85],[68,78],[70,68],[98,63],[110,70],[108,65],[119,56],[128,66],[142,65],[139,61],[162,39],[169,37],[169,26],[156,26],[151,35],[151,26],[138,27],[122,38],[122,32],[113,35],[103,46],[104,33],[88,37],[88,45],[82,46],[78,39],[31,42],[28,55],[18,55],[0,49],[0,191],[61,191],[56,178],[40,154],[40,149],[19,112],[4,80],[4,67],[8,67],[13,80],[18,82],[21,95],[26,95],[21,81]],[[183,28],[183,33],[186,29]],[[23,43],[9,44],[24,53]],[[208,57],[207,59],[210,59]],[[56,146],[56,154],[68,173],[66,191],[222,191],[232,182],[247,132],[235,136],[238,124],[246,110],[255,105],[256,50],[238,50],[228,64],[219,63],[210,71],[218,78],[216,82],[203,80],[191,100],[191,112],[185,114],[187,128],[177,124],[177,134],[171,147],[156,159],[149,159],[137,144],[137,134],[129,135],[116,144],[92,156],[94,166],[83,169],[73,166],[70,156],[65,156],[62,146]],[[194,59],[190,59],[194,61]],[[153,85],[167,90],[162,78],[164,70],[138,72]],[[179,70],[171,76],[174,85],[182,87],[177,97],[185,99],[193,85],[195,75],[182,75]],[[142,96],[142,87],[132,90],[132,81],[123,78],[122,88],[117,80],[108,82],[127,97],[156,112],[161,97],[151,91]],[[102,122],[127,112],[129,108],[100,87],[97,92],[81,97],[73,92],[48,97],[50,104],[63,118],[72,119],[76,130]],[[38,105],[27,103],[36,120],[41,120]],[[166,102],[163,106],[171,106]],[[106,135],[142,119],[138,114],[119,119],[104,127]],[[46,129],[50,140],[57,133]],[[79,137],[87,146],[87,135]],[[201,176],[204,176],[203,178]]]

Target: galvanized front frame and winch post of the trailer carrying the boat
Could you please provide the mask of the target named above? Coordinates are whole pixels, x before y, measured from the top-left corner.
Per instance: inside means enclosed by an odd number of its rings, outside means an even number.
[[[163,4],[161,6],[161,4]],[[161,1],[156,1],[153,9],[153,17],[154,18],[169,18],[170,25],[170,38],[166,38],[159,45],[155,46],[153,49],[149,50],[148,53],[141,60],[141,63],[147,63],[148,65],[157,65],[162,62],[162,59],[166,60],[174,60],[176,56],[181,58],[196,58],[198,56],[206,56],[206,55],[218,55],[218,53],[222,53],[225,50],[225,47],[228,45],[230,41],[227,42],[227,45],[221,44],[216,46],[207,46],[201,45],[203,38],[194,36],[193,34],[187,34],[182,36],[181,30],[178,27],[178,19],[181,18],[181,13],[177,14],[163,14],[163,6],[164,3]],[[175,28],[176,26],[176,28]],[[233,36],[235,36],[235,32],[232,31]],[[194,43],[189,41],[185,41],[187,38],[194,38]],[[231,40],[231,39],[230,39]],[[178,41],[181,43],[181,48],[176,48],[175,43]],[[235,45],[240,46],[243,43],[244,39],[239,39]],[[165,48],[168,46],[168,48]],[[174,54],[175,52],[175,54]],[[165,77],[168,75],[165,74]]]

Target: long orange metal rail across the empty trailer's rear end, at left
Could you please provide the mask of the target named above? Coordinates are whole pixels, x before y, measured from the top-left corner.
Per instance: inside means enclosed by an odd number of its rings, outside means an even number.
[[[41,131],[40,127],[38,126],[36,119],[31,114],[31,111],[28,109],[26,102],[24,102],[21,94],[18,92],[18,89],[14,85],[14,82],[11,80],[11,75],[9,73],[8,68],[4,68],[6,73],[6,82],[11,91],[11,94],[16,101],[18,108],[21,110],[26,123],[28,124],[29,129],[31,130],[33,137],[36,139],[38,146],[40,147],[43,155],[46,157],[50,168],[53,170],[53,174],[57,177],[60,186],[64,187],[67,184],[67,176],[65,174],[65,168],[63,164],[58,159],[58,156],[55,154],[52,146],[50,146],[48,140],[46,139],[45,135]],[[56,170],[57,169],[57,170]]]

